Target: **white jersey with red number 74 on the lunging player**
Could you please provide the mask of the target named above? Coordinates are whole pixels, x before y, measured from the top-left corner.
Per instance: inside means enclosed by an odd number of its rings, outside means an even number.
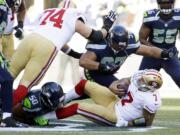
[[[85,15],[77,9],[47,9],[40,16],[35,33],[47,38],[61,49],[75,33],[75,23],[79,18],[86,22]]]

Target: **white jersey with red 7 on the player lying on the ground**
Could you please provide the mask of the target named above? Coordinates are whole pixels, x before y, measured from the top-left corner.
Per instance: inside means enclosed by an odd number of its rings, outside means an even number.
[[[115,109],[117,117],[131,121],[143,117],[143,109],[150,113],[155,113],[160,106],[161,97],[158,91],[142,92],[131,83],[127,95],[116,103]]]

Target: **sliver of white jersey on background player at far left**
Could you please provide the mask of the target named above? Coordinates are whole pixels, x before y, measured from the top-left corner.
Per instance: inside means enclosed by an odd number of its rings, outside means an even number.
[[[4,34],[11,34],[13,32],[13,27],[15,23],[15,16],[14,13],[12,13],[11,10],[8,11],[8,18],[7,18],[7,26],[4,30]]]

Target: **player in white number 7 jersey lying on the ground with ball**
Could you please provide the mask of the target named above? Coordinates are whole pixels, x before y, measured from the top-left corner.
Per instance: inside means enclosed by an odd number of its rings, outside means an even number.
[[[152,69],[140,70],[125,80],[129,81],[129,87],[121,99],[107,87],[82,80],[76,86],[76,92],[73,90],[69,92],[74,95],[71,97],[86,94],[94,102],[73,102],[70,106],[57,110],[56,114],[62,116],[68,109],[71,115],[73,113],[80,114],[103,125],[116,127],[151,126],[155,114],[161,106],[161,98],[158,92],[163,83],[161,74]]]

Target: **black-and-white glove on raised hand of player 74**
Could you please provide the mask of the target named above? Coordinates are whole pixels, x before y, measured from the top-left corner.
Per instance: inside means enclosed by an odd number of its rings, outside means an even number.
[[[107,30],[107,32],[109,31],[109,29],[111,28],[111,26],[113,25],[113,23],[116,20],[116,13],[115,11],[111,10],[109,11],[108,15],[106,15],[103,19],[103,27],[104,29]]]

